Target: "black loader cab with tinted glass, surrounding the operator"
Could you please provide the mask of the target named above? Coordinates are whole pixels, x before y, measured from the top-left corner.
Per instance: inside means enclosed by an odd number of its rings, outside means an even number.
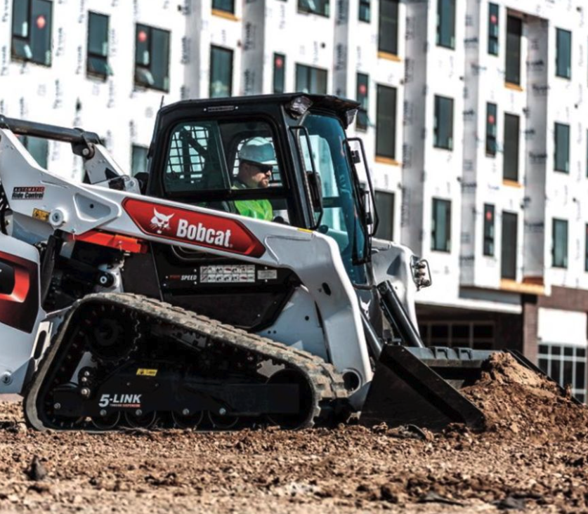
[[[302,93],[164,107],[145,192],[237,214],[242,202],[268,201],[275,223],[332,237],[352,281],[365,282],[370,218],[345,134],[357,107],[351,100]],[[252,140],[275,151],[266,187],[243,187],[239,180],[242,148]]]

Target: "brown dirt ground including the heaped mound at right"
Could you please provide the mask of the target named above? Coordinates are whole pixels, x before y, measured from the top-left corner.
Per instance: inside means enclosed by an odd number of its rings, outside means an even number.
[[[488,428],[36,433],[0,404],[0,511],[588,512],[588,409],[495,358]]]

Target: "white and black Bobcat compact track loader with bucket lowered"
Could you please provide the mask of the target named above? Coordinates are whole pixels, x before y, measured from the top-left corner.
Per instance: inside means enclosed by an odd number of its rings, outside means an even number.
[[[373,237],[365,152],[345,133],[357,108],[303,94],[175,103],[136,177],[95,133],[0,118],[0,393],[25,395],[39,430],[360,413],[482,426],[458,389],[490,352],[419,338],[429,268]],[[18,135],[71,143],[80,180],[42,169]],[[259,187],[238,183],[247,166]],[[244,216],[259,205],[262,219]]]

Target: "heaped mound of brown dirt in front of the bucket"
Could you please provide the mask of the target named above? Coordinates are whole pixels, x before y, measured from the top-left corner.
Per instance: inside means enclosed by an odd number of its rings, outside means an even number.
[[[483,410],[490,434],[538,441],[588,435],[587,407],[507,353],[492,355],[481,379],[462,393]]]

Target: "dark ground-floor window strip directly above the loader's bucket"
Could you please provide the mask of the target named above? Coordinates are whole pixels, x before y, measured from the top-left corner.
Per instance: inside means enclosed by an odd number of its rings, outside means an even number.
[[[492,322],[429,322],[419,324],[419,334],[427,346],[492,350],[495,329]]]

